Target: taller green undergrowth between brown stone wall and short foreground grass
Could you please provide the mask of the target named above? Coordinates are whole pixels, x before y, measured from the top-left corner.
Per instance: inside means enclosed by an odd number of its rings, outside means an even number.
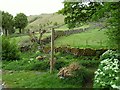
[[[37,60],[37,56],[46,56],[43,60]],[[42,52],[25,52],[21,53],[21,60],[3,61],[2,68],[4,70],[35,70],[35,71],[48,71],[49,65],[49,54],[44,54]],[[84,67],[96,67],[99,64],[99,59],[97,57],[76,57],[74,55],[65,53],[55,53],[56,64],[55,69],[59,70],[62,67],[69,65],[72,62],[78,62]]]

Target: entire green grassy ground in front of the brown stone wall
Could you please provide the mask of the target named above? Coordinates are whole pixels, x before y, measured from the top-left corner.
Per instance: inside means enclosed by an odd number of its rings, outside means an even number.
[[[57,62],[54,73],[50,74],[49,66],[46,67],[46,61],[49,60],[48,55],[46,60],[38,61],[35,59],[37,55],[46,55],[44,53],[23,53],[22,59],[18,61],[3,61],[3,76],[5,87],[9,88],[92,88],[94,71],[96,70],[99,60],[94,57],[74,57],[69,54],[56,54]],[[85,85],[83,83],[61,80],[57,76],[60,66],[64,67],[67,63],[79,62],[89,70],[90,81]],[[66,63],[66,64],[65,64]],[[56,68],[59,67],[57,70]],[[48,69],[46,69],[48,68]],[[44,70],[43,70],[44,69]],[[83,74],[84,75],[84,74]],[[87,76],[88,77],[88,76]],[[77,84],[76,84],[77,83]],[[79,83],[79,84],[78,84]]]

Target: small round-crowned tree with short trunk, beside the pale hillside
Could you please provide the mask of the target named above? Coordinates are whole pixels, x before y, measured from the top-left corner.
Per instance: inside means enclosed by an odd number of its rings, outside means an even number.
[[[21,33],[28,24],[27,16],[24,13],[19,13],[14,18],[15,27],[19,29],[19,33]]]

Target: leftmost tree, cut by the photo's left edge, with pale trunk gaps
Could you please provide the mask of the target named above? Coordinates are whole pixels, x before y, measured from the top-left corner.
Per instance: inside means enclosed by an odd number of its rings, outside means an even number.
[[[14,21],[13,16],[8,12],[2,12],[2,28],[3,32],[7,36],[8,33],[14,33]]]

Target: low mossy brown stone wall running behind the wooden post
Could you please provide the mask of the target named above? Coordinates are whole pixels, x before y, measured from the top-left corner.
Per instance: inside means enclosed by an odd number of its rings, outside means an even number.
[[[91,49],[91,48],[71,48],[71,47],[56,47],[54,49],[55,53],[62,52],[67,54],[72,54],[74,56],[100,56],[108,49]],[[115,50],[115,49],[114,49]],[[51,52],[50,47],[43,47],[42,51],[46,54],[49,54]]]

